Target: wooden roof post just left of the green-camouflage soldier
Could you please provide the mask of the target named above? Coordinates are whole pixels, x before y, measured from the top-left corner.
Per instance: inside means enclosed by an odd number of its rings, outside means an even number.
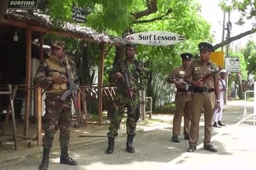
[[[102,96],[103,96],[103,77],[104,77],[104,51],[105,43],[101,42],[100,67],[98,70],[98,123],[102,121]]]

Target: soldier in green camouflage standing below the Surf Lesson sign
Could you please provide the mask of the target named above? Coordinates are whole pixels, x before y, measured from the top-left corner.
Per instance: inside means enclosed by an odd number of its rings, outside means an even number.
[[[112,71],[110,71],[110,83],[115,83],[117,86],[117,94],[114,101],[114,108],[110,113],[110,127],[107,133],[108,146],[106,153],[114,152],[114,137],[117,137],[118,128],[122,121],[125,109],[127,109],[126,120],[126,151],[134,153],[133,137],[136,135],[136,122],[139,120],[139,90],[143,90],[146,86],[146,76],[141,61],[136,61],[136,45],[128,43],[125,46],[126,59],[114,63]],[[130,88],[126,87],[126,75],[130,83]],[[131,102],[129,93],[132,92]]]

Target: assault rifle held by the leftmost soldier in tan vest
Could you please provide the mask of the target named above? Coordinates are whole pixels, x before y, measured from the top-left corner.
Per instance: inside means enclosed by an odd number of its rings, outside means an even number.
[[[69,74],[68,65],[67,65],[65,59],[62,61],[62,65],[65,68],[66,77],[68,78],[67,85],[69,87],[69,90],[66,90],[66,92],[62,94],[60,99],[62,99],[62,101],[64,101],[68,96],[72,97],[72,101],[73,101],[73,104],[75,107],[75,115],[78,120],[78,128],[80,128],[80,127],[82,127],[82,120],[80,117],[79,107],[78,107],[78,87],[75,86],[74,80],[72,79],[72,77]]]

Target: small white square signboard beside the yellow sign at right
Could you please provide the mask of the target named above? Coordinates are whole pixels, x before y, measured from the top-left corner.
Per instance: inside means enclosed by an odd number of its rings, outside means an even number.
[[[230,73],[240,72],[239,58],[238,57],[226,57],[225,69]]]

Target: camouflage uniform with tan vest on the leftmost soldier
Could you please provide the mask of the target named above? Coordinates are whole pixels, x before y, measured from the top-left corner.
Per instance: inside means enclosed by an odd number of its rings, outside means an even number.
[[[76,80],[76,68],[74,61],[65,58],[71,77]],[[66,71],[62,61],[54,55],[46,58],[40,63],[34,77],[34,83],[42,87],[46,92],[46,112],[43,115],[42,124],[45,135],[43,136],[43,146],[51,148],[53,138],[59,128],[60,146],[69,146],[70,125],[72,121],[72,100],[67,97],[65,101],[60,98],[68,89],[67,83],[53,83],[53,75],[65,75]]]

